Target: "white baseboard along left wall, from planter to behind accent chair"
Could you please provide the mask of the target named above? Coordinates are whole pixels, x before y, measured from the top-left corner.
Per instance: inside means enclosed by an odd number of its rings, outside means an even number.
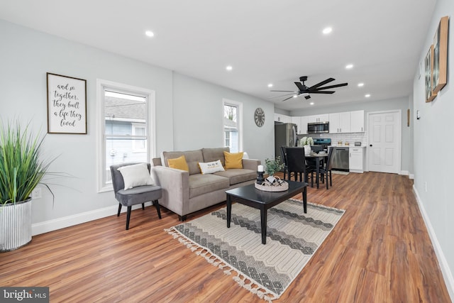
[[[145,203],[145,206],[153,205],[151,202]],[[133,206],[133,209],[142,207],[142,204]],[[126,212],[126,207],[121,209],[121,212]],[[36,224],[32,224],[31,233],[32,236],[39,235],[40,233],[48,233],[49,231],[56,231],[57,229],[82,224],[85,222],[101,219],[106,216],[113,216],[118,211],[118,204],[115,206],[105,207],[104,209],[95,209],[94,211],[87,211],[82,214],[75,214],[72,216],[65,216],[58,219],[44,221]],[[126,224],[126,221],[125,221]]]

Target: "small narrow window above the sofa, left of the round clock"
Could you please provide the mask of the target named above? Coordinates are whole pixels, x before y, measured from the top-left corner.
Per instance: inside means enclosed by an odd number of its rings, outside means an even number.
[[[223,100],[223,144],[231,153],[243,150],[243,104]]]

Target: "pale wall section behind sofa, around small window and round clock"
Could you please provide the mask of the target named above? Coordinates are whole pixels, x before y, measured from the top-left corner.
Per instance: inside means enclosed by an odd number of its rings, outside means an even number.
[[[175,150],[214,148],[223,144],[223,99],[243,104],[243,150],[264,161],[275,149],[274,104],[215,84],[174,74]],[[265,111],[265,124],[255,125],[254,111]]]

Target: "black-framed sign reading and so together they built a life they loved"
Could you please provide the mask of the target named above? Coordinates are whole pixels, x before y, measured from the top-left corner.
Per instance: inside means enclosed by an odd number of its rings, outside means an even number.
[[[87,133],[87,80],[47,73],[48,133]]]

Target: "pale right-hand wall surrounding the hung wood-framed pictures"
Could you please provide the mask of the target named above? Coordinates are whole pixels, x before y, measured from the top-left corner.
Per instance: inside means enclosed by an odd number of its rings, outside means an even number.
[[[454,1],[438,0],[428,28],[426,43],[419,57],[422,66],[429,46],[433,43],[440,18],[450,16],[448,37],[448,84],[438,93],[431,103],[424,101],[424,74],[416,75],[414,80],[414,190],[421,211],[426,219],[433,246],[436,248],[443,275],[454,300],[454,199],[453,191],[453,130],[454,130]],[[419,70],[419,62],[415,64]],[[419,74],[419,72],[417,72]],[[416,111],[421,119],[416,120]],[[438,148],[438,146],[440,148]],[[445,155],[443,155],[445,154]],[[427,190],[426,190],[427,185]]]

